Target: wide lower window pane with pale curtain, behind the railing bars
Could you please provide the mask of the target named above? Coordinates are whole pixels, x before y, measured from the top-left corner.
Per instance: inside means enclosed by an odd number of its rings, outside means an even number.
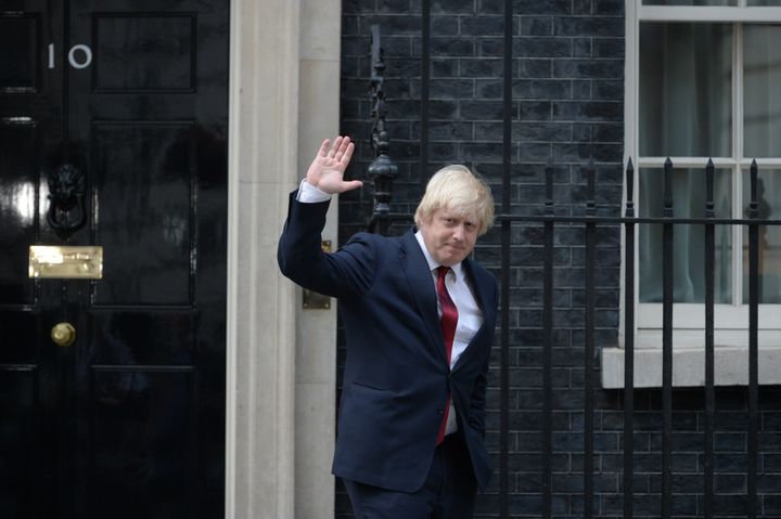
[[[662,216],[664,170],[640,169],[641,218]],[[677,218],[705,217],[705,173],[703,169],[675,169],[673,174],[673,213]],[[717,169],[714,176],[716,218],[729,218],[732,189],[730,172]],[[662,225],[640,225],[640,302],[662,302]],[[732,229],[717,225],[716,285],[717,303],[732,302]],[[673,277],[676,302],[705,301],[705,228],[674,225]]]

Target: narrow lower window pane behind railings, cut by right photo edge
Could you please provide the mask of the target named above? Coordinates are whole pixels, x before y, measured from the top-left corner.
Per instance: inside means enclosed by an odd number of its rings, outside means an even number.
[[[748,216],[751,180],[743,171],[743,211]],[[759,170],[757,209],[761,219],[781,217],[781,170]],[[748,226],[743,232],[743,302],[748,303]],[[781,228],[759,226],[759,302],[781,303]]]

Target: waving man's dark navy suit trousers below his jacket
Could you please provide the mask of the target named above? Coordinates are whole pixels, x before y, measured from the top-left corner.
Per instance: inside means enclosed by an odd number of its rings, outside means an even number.
[[[471,519],[477,493],[460,432],[436,447],[428,476],[417,492],[396,492],[343,480],[356,519]]]

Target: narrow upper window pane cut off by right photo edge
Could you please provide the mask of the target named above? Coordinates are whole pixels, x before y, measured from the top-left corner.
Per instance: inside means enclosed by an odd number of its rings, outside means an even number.
[[[781,26],[743,29],[746,157],[781,156]]]

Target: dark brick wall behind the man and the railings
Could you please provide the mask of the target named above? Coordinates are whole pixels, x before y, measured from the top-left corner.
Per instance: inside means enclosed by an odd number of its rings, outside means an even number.
[[[554,170],[556,212],[581,215],[585,166],[597,169],[600,215],[620,213],[624,153],[624,0],[515,0],[513,38],[511,211],[539,213],[545,167]],[[342,37],[342,132],[359,142],[349,174],[364,178],[372,158],[369,94],[370,26],[380,24],[387,69],[385,93],[392,156],[399,166],[394,210],[411,212],[422,180],[445,164],[463,163],[492,185],[502,199],[502,56],[504,2],[432,1],[431,126],[427,171],[421,171],[421,2],[345,0]],[[368,180],[368,179],[367,179]],[[371,186],[343,195],[340,242],[362,230],[371,212]],[[394,228],[401,232],[408,223]],[[553,516],[582,517],[584,464],[584,232],[560,229],[555,236],[553,350]],[[620,235],[599,232],[597,252],[598,347],[617,343],[620,294]],[[513,517],[541,515],[542,449],[542,233],[536,224],[512,230],[510,294],[510,506]],[[500,236],[489,232],[475,258],[497,277]],[[340,366],[344,356],[340,334]],[[488,391],[487,442],[499,450],[499,351]],[[598,364],[598,362],[597,362]],[[597,368],[599,371],[599,367]],[[599,373],[596,374],[599,380]],[[702,390],[676,390],[674,516],[703,514]],[[758,492],[761,517],[781,517],[781,402],[774,389],[760,391]],[[594,399],[594,516],[623,516],[623,428],[620,391],[597,389]],[[715,490],[719,516],[740,517],[746,491],[746,393],[717,392]],[[662,489],[662,398],[636,392],[635,515],[660,517]],[[498,464],[497,464],[498,467]],[[479,498],[478,517],[498,516],[498,471]],[[337,490],[336,517],[351,517]]]

